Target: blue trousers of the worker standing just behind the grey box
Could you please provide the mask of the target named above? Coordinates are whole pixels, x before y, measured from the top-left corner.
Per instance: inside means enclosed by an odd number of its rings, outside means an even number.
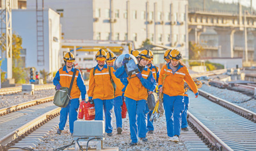
[[[113,109],[113,99],[110,100],[100,100],[93,99],[95,104],[95,120],[103,120],[103,109],[105,113],[105,132],[111,133],[113,131],[112,127],[112,109]]]

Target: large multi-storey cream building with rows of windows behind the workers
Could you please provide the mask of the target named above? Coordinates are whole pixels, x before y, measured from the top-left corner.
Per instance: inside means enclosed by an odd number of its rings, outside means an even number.
[[[138,48],[148,38],[188,58],[188,0],[44,0],[44,8],[60,14],[65,39],[133,40]]]

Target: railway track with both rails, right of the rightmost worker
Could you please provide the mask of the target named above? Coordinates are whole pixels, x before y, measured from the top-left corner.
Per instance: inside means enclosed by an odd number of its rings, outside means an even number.
[[[199,90],[188,123],[211,150],[256,150],[256,113]],[[194,96],[189,91],[189,96]],[[211,101],[209,101],[211,100]]]

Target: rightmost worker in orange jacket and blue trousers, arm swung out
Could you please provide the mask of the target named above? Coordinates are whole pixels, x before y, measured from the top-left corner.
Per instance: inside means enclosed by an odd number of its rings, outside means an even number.
[[[181,114],[184,111],[184,81],[198,97],[198,90],[189,75],[188,68],[181,61],[180,51],[168,53],[170,62],[163,66],[159,76],[159,91],[163,92],[167,135],[170,141],[179,142]]]

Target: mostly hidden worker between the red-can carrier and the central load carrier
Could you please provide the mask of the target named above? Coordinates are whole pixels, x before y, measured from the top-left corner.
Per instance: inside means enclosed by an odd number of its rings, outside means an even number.
[[[107,56],[106,56],[107,65],[110,67],[113,67],[115,60],[116,60],[115,54],[113,54],[113,52],[107,52]],[[115,98],[114,98],[114,111],[116,115],[117,134],[121,134],[122,132],[122,105],[123,105],[122,94],[123,94],[123,91],[120,90],[119,88],[116,88]]]

